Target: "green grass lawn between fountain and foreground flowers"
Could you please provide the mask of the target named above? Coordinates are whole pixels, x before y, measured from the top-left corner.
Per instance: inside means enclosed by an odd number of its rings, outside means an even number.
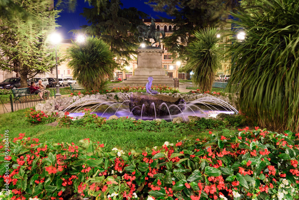
[[[91,141],[99,141],[105,144],[106,151],[110,151],[114,147],[123,150],[135,149],[141,152],[146,147],[161,146],[165,141],[176,143],[182,137],[199,138],[207,136],[209,130],[203,132],[191,130],[168,130],[161,129],[159,132],[144,131],[144,130],[93,130],[83,128],[59,128],[51,127],[45,124],[32,125],[26,121],[24,114],[25,110],[18,110],[12,113],[0,115],[0,132],[4,134],[4,130],[9,130],[9,137],[13,139],[18,137],[19,133],[26,133],[26,137],[38,138],[39,142],[45,142],[53,139],[54,142],[74,142],[85,138],[90,138]],[[223,131],[215,131],[213,133],[223,132],[224,136],[229,136],[235,132],[231,129],[224,129]]]

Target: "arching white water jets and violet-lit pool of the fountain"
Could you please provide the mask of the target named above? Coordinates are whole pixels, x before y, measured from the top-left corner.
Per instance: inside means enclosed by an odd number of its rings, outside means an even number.
[[[110,94],[111,96],[114,96],[114,94]],[[118,93],[119,94],[119,93]],[[180,105],[167,105],[166,103],[161,103],[158,107],[155,106],[155,103],[150,104],[150,113],[152,113],[151,116],[145,116],[144,115],[144,104],[142,106],[134,106],[132,110],[129,109],[129,104],[131,100],[129,100],[129,97],[131,96],[131,92],[126,94],[123,93],[123,97],[126,97],[127,100],[124,100],[122,102],[113,102],[113,101],[107,101],[103,102],[100,100],[94,100],[94,99],[79,99],[70,106],[68,106],[64,112],[68,111],[70,112],[70,116],[77,117],[83,115],[81,110],[83,108],[90,108],[93,113],[96,113],[98,116],[109,118],[111,115],[117,115],[118,117],[126,117],[131,116],[131,114],[134,114],[134,110],[139,110],[141,112],[140,116],[134,116],[136,119],[143,119],[143,120],[153,120],[158,118],[163,118],[166,121],[172,121],[175,117],[182,117],[184,121],[187,121],[187,116],[197,116],[197,117],[210,117],[210,116],[216,116],[216,114],[224,112],[224,113],[234,113],[238,112],[233,106],[225,102],[224,100],[221,100],[217,97],[211,96],[209,94],[197,94],[194,95],[193,93],[186,94],[186,93],[176,93],[172,94],[172,97],[181,97],[185,98],[186,100],[192,99],[192,101],[186,103],[184,106],[186,109],[181,110]],[[120,94],[119,94],[120,95]],[[194,100],[196,99],[196,100]],[[93,106],[87,104],[93,104]],[[167,114],[165,116],[158,116],[156,115],[157,109],[161,110],[162,107],[166,108]],[[71,109],[73,108],[73,109]],[[171,115],[170,110],[176,108],[179,110],[176,115]],[[212,113],[211,113],[212,112]]]

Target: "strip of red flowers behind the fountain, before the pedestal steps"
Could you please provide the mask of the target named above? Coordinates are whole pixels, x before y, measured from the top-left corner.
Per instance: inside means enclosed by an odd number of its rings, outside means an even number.
[[[152,90],[157,90],[157,91],[168,91],[168,92],[174,92],[177,93],[179,92],[178,88],[172,88],[168,87],[166,85],[152,85],[151,87]],[[145,86],[133,86],[133,87],[120,87],[120,88],[112,88],[111,92],[134,92],[134,91],[146,91]]]

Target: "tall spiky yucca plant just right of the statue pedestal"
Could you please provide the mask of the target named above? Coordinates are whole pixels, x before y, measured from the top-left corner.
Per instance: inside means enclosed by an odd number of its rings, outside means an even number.
[[[221,66],[221,50],[218,46],[219,31],[205,28],[194,33],[196,41],[187,47],[189,60],[186,68],[193,71],[192,82],[201,90],[210,90],[214,74]]]

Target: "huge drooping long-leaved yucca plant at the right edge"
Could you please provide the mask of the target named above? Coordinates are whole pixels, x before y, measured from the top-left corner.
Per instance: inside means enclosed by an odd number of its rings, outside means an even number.
[[[231,91],[259,125],[298,133],[299,1],[263,1],[262,12],[236,15],[245,40],[230,47]]]

